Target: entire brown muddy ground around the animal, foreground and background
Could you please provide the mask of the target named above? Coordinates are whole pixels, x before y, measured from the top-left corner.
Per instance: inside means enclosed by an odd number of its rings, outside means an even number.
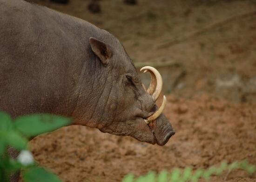
[[[88,11],[89,0],[34,2],[114,33],[136,65],[155,65],[176,130],[163,147],[82,126],[34,138],[35,159],[64,182],[120,182],[127,173],[223,160],[256,164],[255,0],[138,0],[135,6],[100,0],[96,14]],[[256,175],[234,171],[211,181],[224,179],[256,182]]]

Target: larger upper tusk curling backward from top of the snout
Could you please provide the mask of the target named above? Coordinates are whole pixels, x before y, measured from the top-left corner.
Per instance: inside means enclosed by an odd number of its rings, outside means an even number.
[[[144,71],[144,73],[146,73],[147,71],[150,72],[151,82],[147,92],[148,94],[152,95],[154,100],[157,100],[162,91],[162,76],[155,68],[151,66],[144,66],[143,68],[141,68],[141,71]]]

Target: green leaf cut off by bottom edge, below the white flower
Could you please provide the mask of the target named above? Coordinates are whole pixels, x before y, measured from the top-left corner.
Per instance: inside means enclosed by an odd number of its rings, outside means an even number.
[[[58,176],[42,167],[34,167],[22,172],[24,182],[61,182]]]

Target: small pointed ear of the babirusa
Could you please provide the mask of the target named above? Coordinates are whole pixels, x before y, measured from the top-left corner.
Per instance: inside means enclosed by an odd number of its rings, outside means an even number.
[[[109,58],[112,56],[111,47],[108,44],[98,40],[97,38],[89,39],[90,46],[93,52],[98,56],[104,65],[109,63]]]

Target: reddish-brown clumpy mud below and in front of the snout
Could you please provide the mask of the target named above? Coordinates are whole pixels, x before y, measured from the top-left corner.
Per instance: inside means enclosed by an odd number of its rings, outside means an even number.
[[[169,95],[165,114],[176,134],[163,147],[69,126],[34,138],[32,151],[41,165],[64,182],[120,182],[127,173],[207,168],[223,160],[256,163],[255,108],[256,104],[232,104],[206,95],[190,100]],[[236,171],[227,180],[252,182],[256,175]]]

